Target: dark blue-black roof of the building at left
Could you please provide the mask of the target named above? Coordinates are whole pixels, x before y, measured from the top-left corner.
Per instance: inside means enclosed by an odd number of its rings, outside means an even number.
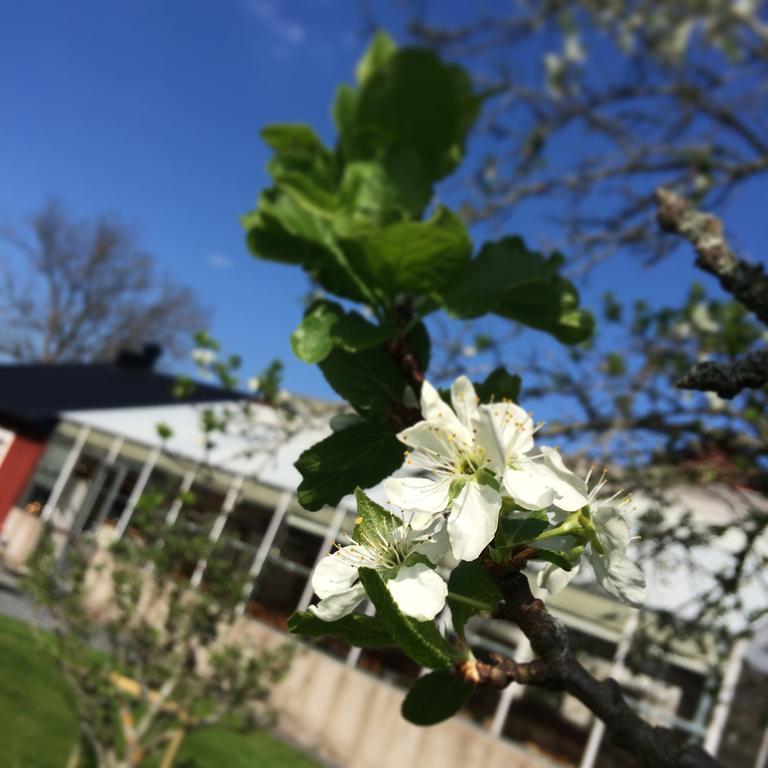
[[[151,365],[151,363],[150,363]],[[244,397],[223,387],[194,382],[174,396],[178,377],[158,373],[141,358],[114,363],[0,364],[0,423],[48,432],[64,411],[206,403]]]

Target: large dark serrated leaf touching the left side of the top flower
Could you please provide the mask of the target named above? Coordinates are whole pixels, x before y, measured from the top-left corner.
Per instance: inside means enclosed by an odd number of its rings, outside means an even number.
[[[358,485],[370,488],[403,463],[403,446],[387,424],[363,422],[334,432],[299,456],[299,503],[335,506]]]

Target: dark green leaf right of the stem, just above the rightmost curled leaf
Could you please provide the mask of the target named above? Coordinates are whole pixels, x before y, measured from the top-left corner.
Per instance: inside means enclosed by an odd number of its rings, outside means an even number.
[[[522,238],[486,243],[447,291],[446,309],[463,318],[496,309],[511,288],[540,283],[557,273],[556,259],[529,251]]]

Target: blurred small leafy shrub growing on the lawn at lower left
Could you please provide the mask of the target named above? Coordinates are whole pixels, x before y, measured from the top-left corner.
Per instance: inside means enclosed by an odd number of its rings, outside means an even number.
[[[165,507],[145,494],[108,551],[80,538],[57,554],[44,539],[30,563],[26,586],[52,629],[40,640],[79,725],[70,768],[171,768],[189,733],[275,722],[270,693],[293,646],[253,647],[237,632],[248,574],[207,535],[167,523]],[[200,558],[204,583],[191,589]]]

